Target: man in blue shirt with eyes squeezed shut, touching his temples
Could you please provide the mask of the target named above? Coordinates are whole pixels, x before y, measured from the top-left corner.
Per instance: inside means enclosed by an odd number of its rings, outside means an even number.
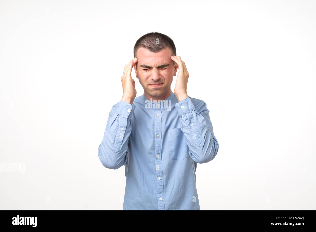
[[[100,161],[110,169],[125,165],[123,210],[200,210],[197,163],[211,161],[218,151],[209,110],[187,95],[189,73],[171,38],[143,35],[134,57],[121,77],[122,99],[109,113]],[[144,89],[138,97],[132,67]]]

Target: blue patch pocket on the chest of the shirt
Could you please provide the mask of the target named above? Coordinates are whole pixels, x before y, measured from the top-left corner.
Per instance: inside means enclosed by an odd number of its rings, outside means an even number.
[[[184,160],[189,157],[189,149],[186,138],[181,128],[174,128],[168,131],[169,156],[170,159]]]

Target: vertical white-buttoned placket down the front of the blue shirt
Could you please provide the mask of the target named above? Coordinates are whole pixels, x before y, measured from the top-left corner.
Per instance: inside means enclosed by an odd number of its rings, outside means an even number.
[[[161,120],[161,109],[155,110],[155,172],[156,172],[156,192],[157,192],[157,203],[158,210],[165,210],[164,192],[163,192],[163,175],[162,175],[162,120]],[[157,170],[156,167],[159,167]]]

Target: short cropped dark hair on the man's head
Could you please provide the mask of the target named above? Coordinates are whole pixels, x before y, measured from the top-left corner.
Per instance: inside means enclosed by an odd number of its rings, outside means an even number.
[[[156,41],[159,41],[159,43],[157,44]],[[174,45],[173,40],[169,36],[159,32],[150,32],[137,39],[134,46],[134,57],[136,57],[136,52],[140,47],[148,49],[151,52],[158,52],[168,47],[171,49],[171,55],[177,56],[176,46]]]

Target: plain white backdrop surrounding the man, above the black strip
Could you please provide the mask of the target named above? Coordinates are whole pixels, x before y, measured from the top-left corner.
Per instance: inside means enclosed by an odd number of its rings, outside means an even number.
[[[97,150],[136,40],[160,32],[219,143],[197,164],[201,210],[316,210],[315,7],[1,0],[0,163],[25,174],[0,172],[0,209],[123,209],[125,167],[106,169]]]

